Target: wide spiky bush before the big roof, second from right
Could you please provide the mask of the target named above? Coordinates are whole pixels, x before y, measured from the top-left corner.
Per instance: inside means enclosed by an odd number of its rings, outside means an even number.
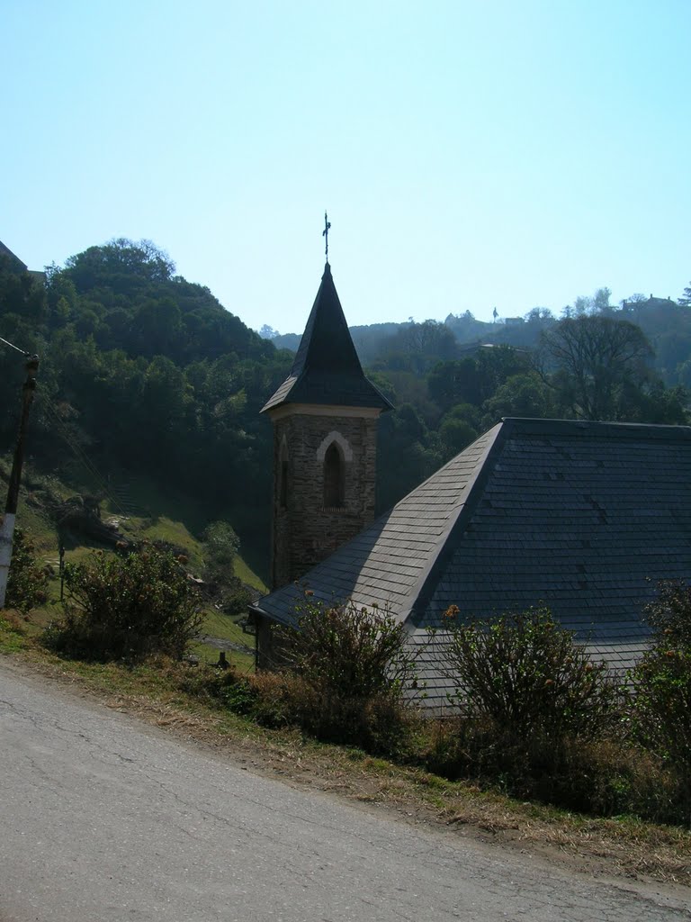
[[[549,744],[597,739],[618,719],[618,691],[605,667],[548,609],[468,624],[457,613],[455,606],[445,613],[439,647],[464,715],[513,739]]]

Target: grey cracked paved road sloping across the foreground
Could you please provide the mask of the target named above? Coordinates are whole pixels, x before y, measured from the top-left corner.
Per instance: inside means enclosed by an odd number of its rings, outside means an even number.
[[[0,659],[1,922],[690,919],[294,790]]]

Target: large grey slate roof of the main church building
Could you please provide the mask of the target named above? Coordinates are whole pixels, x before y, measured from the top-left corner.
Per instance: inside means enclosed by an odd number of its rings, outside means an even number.
[[[691,428],[503,420],[255,608],[289,623],[308,586],[388,606],[420,645],[451,604],[472,619],[544,603],[621,670],[645,646],[657,582],[690,575]],[[433,649],[422,668],[435,705],[448,681]]]

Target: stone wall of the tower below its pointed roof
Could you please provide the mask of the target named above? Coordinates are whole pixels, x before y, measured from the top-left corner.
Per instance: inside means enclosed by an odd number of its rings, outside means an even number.
[[[298,580],[374,518],[379,411],[361,412],[317,415],[296,406],[274,420],[274,589]],[[324,452],[334,441],[345,466],[344,502],[338,509],[323,505]],[[283,493],[282,470],[287,475]]]

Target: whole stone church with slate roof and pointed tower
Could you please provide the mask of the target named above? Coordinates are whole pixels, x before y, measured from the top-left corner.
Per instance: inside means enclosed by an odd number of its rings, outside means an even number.
[[[252,606],[258,665],[272,622],[315,600],[377,605],[420,651],[443,709],[443,614],[487,619],[545,605],[593,659],[641,655],[643,609],[691,573],[691,427],[501,420],[374,518],[377,420],[391,405],[357,358],[326,263],[274,424],[272,592]],[[429,629],[439,631],[429,644]]]

